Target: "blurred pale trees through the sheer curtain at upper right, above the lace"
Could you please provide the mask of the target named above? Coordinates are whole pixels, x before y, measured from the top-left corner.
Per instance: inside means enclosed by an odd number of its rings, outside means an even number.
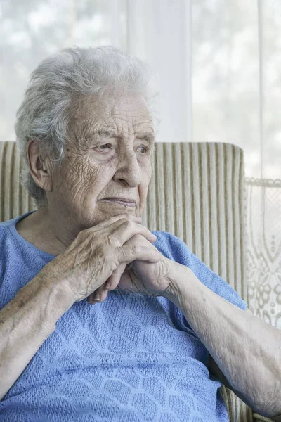
[[[247,177],[281,179],[281,2],[261,6],[259,34],[256,0],[192,1],[193,139],[235,143]]]

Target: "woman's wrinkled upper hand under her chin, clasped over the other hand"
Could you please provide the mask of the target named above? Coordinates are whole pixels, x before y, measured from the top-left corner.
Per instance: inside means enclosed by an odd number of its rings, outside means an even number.
[[[162,258],[150,243],[155,236],[140,222],[138,217],[119,215],[81,231],[44,272],[63,286],[73,302],[89,297],[108,279],[113,290],[127,264],[136,260],[154,263]],[[106,294],[107,290],[103,291],[104,298]]]

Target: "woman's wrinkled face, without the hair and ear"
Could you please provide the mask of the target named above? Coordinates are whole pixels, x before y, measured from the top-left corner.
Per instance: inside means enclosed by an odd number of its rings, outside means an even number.
[[[75,104],[63,167],[53,173],[48,207],[81,229],[143,212],[154,132],[139,94],[87,96]]]

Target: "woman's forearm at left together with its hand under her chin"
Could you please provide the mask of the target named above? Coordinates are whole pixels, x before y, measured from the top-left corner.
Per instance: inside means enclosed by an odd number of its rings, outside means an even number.
[[[151,244],[155,236],[138,220],[117,215],[80,231],[67,250],[46,264],[0,311],[0,399],[74,302],[87,298],[110,276],[114,289],[120,266],[137,259],[158,262],[162,258]],[[106,294],[107,290],[101,299]]]

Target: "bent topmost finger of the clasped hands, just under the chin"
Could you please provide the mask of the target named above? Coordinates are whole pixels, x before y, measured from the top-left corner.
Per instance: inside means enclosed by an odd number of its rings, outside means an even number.
[[[147,227],[136,224],[129,219],[125,219],[114,231],[112,231],[110,239],[113,245],[122,246],[136,234],[141,234],[150,243],[156,241],[156,236],[152,234]]]

